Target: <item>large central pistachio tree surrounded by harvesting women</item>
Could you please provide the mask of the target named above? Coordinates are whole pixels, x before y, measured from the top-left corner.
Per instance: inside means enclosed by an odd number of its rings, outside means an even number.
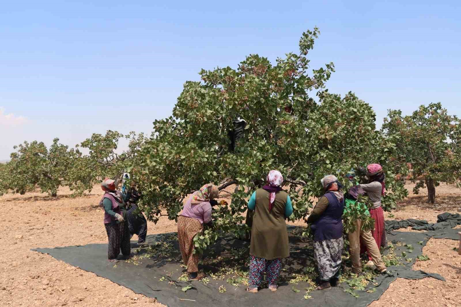
[[[385,208],[402,197],[402,182],[394,180],[387,159],[395,150],[394,139],[375,131],[371,106],[352,93],[343,98],[328,93],[325,82],[334,71],[332,63],[307,73],[307,54],[318,34],[316,28],[303,33],[300,52],[287,53],[276,65],[249,55],[237,69],[202,70],[201,82],[184,84],[172,116],[154,122],[152,136],[129,168],[150,220],[156,222],[163,207],[176,219],[183,198],[204,183],[214,182],[220,189],[236,184],[229,208],[217,210],[214,218],[219,229],[242,236],[248,230],[240,225],[246,199],[271,169],[286,178],[285,189],[294,202],[291,219],[306,215],[314,196],[322,195],[324,175],[335,174],[350,185],[345,173],[371,162],[384,165],[386,184],[397,191],[388,194]],[[247,125],[229,151],[236,118]],[[203,239],[196,246],[208,243]]]

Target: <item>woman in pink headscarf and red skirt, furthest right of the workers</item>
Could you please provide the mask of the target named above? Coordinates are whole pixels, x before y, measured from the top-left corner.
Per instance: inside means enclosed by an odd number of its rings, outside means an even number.
[[[384,228],[384,211],[381,207],[381,199],[384,196],[385,176],[383,167],[379,164],[370,164],[366,167],[366,176],[370,178],[369,183],[361,184],[361,188],[365,190],[368,199],[372,202],[370,215],[375,220],[375,228],[372,230],[372,236],[379,247],[386,245],[386,231]],[[367,251],[366,247],[361,245],[361,253]],[[367,266],[372,266],[372,257],[368,253]]]

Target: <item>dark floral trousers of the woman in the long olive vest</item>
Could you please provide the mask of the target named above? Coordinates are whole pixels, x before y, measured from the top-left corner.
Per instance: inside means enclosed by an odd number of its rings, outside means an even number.
[[[250,255],[250,272],[248,276],[250,287],[259,287],[263,281],[264,273],[266,273],[267,283],[276,285],[281,269],[281,258],[266,260],[264,258],[258,258]]]

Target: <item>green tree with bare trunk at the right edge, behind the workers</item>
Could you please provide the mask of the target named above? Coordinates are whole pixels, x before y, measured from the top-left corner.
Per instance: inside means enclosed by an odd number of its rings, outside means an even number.
[[[427,187],[428,201],[435,202],[435,188],[441,183],[460,181],[460,125],[442,104],[420,106],[412,115],[402,116],[400,110],[389,110],[382,128],[385,136],[399,136],[394,159],[412,166],[414,193]]]

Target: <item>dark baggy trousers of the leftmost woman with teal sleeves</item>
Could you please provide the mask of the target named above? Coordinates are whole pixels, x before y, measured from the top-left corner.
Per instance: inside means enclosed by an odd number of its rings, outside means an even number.
[[[106,226],[107,238],[109,239],[107,258],[109,260],[117,259],[120,251],[124,256],[130,255],[130,230],[128,230],[128,224],[126,222],[119,224],[108,223],[104,224],[104,226]]]

